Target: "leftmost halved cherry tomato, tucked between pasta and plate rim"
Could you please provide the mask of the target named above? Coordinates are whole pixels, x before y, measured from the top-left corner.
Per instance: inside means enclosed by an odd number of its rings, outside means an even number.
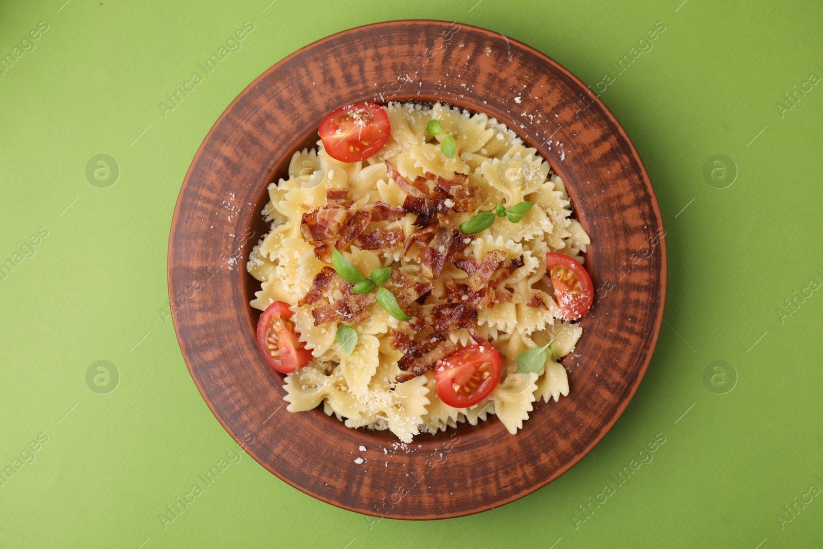
[[[281,374],[291,374],[311,361],[311,351],[297,339],[291,315],[286,301],[275,301],[258,320],[258,349],[272,370]]]

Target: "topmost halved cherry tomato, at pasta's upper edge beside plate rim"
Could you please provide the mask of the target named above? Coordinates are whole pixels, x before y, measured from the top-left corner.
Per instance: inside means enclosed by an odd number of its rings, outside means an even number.
[[[374,103],[346,105],[320,123],[329,156],[342,162],[365,161],[385,147],[392,134],[386,109]]]

